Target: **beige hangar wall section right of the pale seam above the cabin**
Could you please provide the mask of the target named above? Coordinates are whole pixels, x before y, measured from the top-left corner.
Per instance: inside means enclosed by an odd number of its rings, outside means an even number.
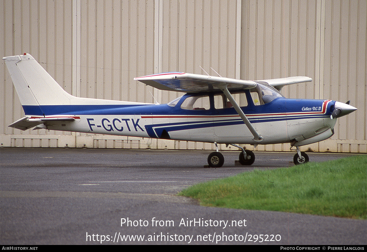
[[[242,1],[241,79],[309,76],[284,87],[289,98],[332,99],[357,107],[313,151],[367,152],[366,1]],[[248,147],[251,148],[251,147]],[[257,150],[289,150],[259,145]]]

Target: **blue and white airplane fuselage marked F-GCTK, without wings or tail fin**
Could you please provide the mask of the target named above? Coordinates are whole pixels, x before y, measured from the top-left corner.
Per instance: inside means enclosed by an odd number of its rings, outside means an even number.
[[[224,144],[309,144],[333,134],[336,119],[331,119],[334,101],[301,100],[253,96],[241,90],[239,103],[257,132],[261,142],[244,125],[243,120],[222,93],[188,93],[169,104],[145,105],[47,105],[44,116],[70,116],[72,122],[47,122],[50,130],[113,134],[133,137],[164,138]],[[236,94],[235,94],[236,95]],[[240,97],[240,96],[243,97]],[[199,99],[199,105],[195,103]],[[24,108],[37,118],[36,108]],[[319,137],[317,137],[319,136]],[[313,139],[314,138],[314,139]],[[321,139],[323,138],[323,139]],[[305,142],[309,140],[307,143]],[[312,140],[313,139],[313,140]],[[321,139],[321,140],[320,140]]]

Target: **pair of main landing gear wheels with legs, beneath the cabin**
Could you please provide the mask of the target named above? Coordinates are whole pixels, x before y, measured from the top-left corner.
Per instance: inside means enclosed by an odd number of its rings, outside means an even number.
[[[208,165],[212,168],[219,168],[222,167],[224,164],[224,156],[218,151],[218,145],[216,142],[215,147],[217,148],[217,151],[211,152],[208,156]],[[255,161],[255,154],[252,151],[244,150],[244,148],[235,145],[230,144],[232,146],[235,146],[237,148],[240,148],[242,151],[239,155],[239,161],[241,165],[252,165]]]

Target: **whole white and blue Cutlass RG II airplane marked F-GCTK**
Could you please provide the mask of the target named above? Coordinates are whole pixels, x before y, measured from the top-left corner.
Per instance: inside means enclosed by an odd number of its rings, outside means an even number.
[[[217,150],[208,156],[211,167],[224,164],[217,144],[240,148],[240,163],[252,165],[254,152],[238,144],[291,143],[294,163],[306,163],[308,155],[299,146],[333,136],[337,118],[357,109],[349,102],[280,94],[285,85],[312,81],[303,76],[251,81],[159,73],[134,80],[186,94],[168,104],[80,98],[63,90],[30,54],[3,60],[25,113],[9,127],[215,143]]]

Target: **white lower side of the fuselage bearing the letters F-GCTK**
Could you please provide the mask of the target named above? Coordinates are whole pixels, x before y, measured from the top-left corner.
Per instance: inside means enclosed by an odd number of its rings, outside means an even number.
[[[65,115],[64,115],[65,116]],[[227,126],[213,126],[213,122],[221,120],[241,120],[233,116],[185,116],[185,115],[70,115],[73,122],[47,123],[49,130],[83,132],[92,134],[110,134],[131,137],[152,137],[147,132],[151,127],[155,138],[159,138],[161,125],[179,125],[184,129],[170,129],[168,134],[172,140],[198,141],[224,144],[257,144],[251,132],[243,123]],[[251,119],[262,118],[264,115],[249,115]],[[266,116],[271,118],[271,115]],[[253,123],[257,132],[264,140],[261,144],[289,143],[292,139],[299,140],[314,137],[328,129],[332,129],[336,119],[312,118],[297,120],[279,120]],[[168,126],[169,127],[169,126]],[[174,127],[174,126],[172,126]],[[187,127],[187,128],[186,128]],[[322,132],[317,132],[324,129]],[[329,136],[330,137],[330,136]],[[308,143],[309,144],[309,143]]]

